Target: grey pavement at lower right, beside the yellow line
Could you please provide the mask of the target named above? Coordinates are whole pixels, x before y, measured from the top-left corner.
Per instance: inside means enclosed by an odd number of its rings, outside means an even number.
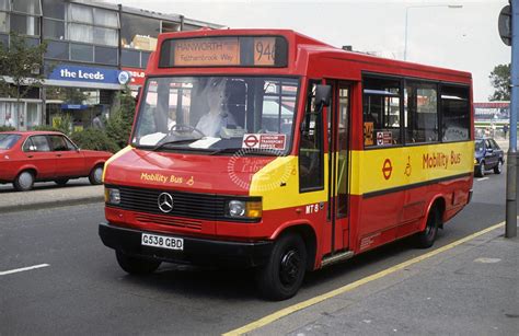
[[[503,232],[499,225],[455,246],[441,247],[440,253],[432,251],[425,258],[349,283],[326,300],[314,298],[320,302],[299,303],[282,316],[267,316],[250,325],[251,329],[245,326],[237,332],[519,335],[519,240],[505,239]]]

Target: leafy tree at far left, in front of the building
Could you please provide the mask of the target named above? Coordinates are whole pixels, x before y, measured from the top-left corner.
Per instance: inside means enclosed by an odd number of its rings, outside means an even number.
[[[10,40],[10,46],[0,44],[0,94],[15,97],[20,114],[20,101],[31,89],[41,88],[45,80],[43,68],[47,44],[31,46],[15,32],[11,32]],[[8,82],[7,77],[11,81]]]

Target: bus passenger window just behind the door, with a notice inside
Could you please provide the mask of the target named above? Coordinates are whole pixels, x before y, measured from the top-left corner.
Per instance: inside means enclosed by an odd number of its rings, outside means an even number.
[[[393,146],[402,143],[400,117],[400,80],[364,79],[364,144]]]

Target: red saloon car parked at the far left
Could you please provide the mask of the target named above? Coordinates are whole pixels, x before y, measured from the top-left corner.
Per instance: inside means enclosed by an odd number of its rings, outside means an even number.
[[[0,132],[0,183],[16,190],[32,189],[34,182],[54,181],[65,185],[70,178],[88,176],[101,184],[109,152],[80,150],[67,136],[56,131]]]

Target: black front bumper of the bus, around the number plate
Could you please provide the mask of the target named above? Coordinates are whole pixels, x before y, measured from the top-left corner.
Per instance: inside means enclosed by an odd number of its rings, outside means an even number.
[[[183,251],[162,247],[143,246],[142,233],[162,236],[181,237],[184,240]],[[264,265],[273,250],[273,242],[228,242],[199,239],[193,236],[170,235],[161,232],[146,232],[120,228],[109,223],[99,225],[99,234],[103,244],[127,255],[158,259],[169,263],[256,267]]]

